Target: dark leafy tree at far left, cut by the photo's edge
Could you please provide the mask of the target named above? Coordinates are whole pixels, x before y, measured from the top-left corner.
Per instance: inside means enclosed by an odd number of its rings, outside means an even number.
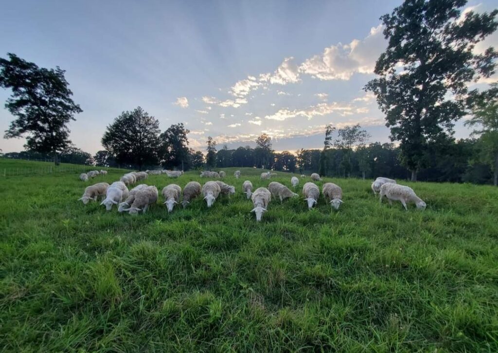
[[[38,67],[15,54],[9,60],[0,58],[0,87],[10,88],[12,95],[5,109],[16,117],[5,131],[4,138],[26,138],[24,147],[30,151],[57,154],[71,146],[68,124],[81,113],[75,104],[64,77],[66,71]]]

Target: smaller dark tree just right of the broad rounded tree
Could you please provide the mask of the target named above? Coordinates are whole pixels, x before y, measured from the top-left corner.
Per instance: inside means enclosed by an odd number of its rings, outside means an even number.
[[[182,167],[189,159],[189,148],[187,135],[190,130],[183,123],[171,125],[165,132],[159,135],[160,147],[159,158],[164,168]]]

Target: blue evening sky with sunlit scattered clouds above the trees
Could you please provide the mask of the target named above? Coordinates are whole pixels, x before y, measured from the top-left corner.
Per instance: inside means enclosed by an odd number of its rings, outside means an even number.
[[[161,130],[184,123],[190,147],[208,136],[229,148],[262,133],[276,151],[322,148],[325,125],[360,124],[388,142],[384,115],[363,91],[385,49],[379,17],[401,1],[8,1],[0,12],[0,56],[66,70],[83,113],[76,147],[103,149],[106,127],[142,107]],[[495,1],[469,1],[489,11]],[[477,49],[498,45],[494,33]],[[493,78],[496,80],[496,76]],[[491,80],[473,84],[485,89]],[[0,89],[0,101],[10,92]],[[0,108],[0,130],[13,117]],[[455,137],[470,131],[459,121]],[[1,139],[3,153],[24,139]]]

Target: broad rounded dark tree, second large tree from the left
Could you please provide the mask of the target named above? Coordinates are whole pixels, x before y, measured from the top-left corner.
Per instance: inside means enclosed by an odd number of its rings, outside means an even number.
[[[120,164],[143,166],[157,165],[159,121],[142,108],[125,111],[107,127],[102,146]]]

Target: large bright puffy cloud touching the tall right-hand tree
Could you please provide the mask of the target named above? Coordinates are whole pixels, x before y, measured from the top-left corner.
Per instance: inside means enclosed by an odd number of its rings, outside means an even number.
[[[378,25],[363,40],[325,48],[321,55],[305,60],[299,71],[320,80],[349,80],[354,73],[373,73],[375,60],[386,47],[382,29]]]

